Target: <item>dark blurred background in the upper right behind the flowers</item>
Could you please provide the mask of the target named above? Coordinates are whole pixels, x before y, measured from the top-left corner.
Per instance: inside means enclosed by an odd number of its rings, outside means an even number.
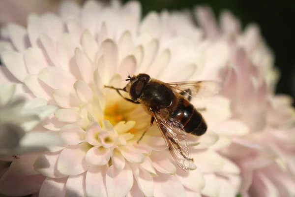
[[[128,0],[123,0],[124,2]],[[207,4],[218,16],[229,9],[242,22],[258,23],[263,36],[275,54],[275,65],[281,70],[277,93],[295,98],[295,0],[140,0],[143,14],[149,10],[161,11],[193,8]]]

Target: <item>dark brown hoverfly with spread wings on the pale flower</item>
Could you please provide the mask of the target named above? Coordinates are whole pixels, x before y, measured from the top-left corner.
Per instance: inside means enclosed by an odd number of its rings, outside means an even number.
[[[129,83],[123,89],[104,87],[115,89],[125,100],[142,104],[151,115],[149,127],[138,142],[155,121],[177,165],[182,170],[189,171],[192,159],[189,157],[186,133],[201,136],[207,131],[206,121],[190,100],[195,96],[217,94],[219,84],[213,81],[164,83],[145,73],[132,77],[128,75],[125,81]],[[119,91],[128,93],[131,99],[125,98]]]

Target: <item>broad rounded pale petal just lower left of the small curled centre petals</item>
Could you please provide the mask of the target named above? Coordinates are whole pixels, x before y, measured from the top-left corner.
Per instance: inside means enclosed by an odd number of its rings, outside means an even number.
[[[67,175],[77,175],[85,172],[89,168],[89,164],[85,160],[89,148],[88,143],[67,146],[60,153],[57,169],[62,174]]]

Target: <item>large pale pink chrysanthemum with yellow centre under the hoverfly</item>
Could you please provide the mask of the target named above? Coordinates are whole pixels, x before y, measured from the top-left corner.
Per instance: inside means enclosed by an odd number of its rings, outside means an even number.
[[[204,67],[214,66],[210,62],[215,58],[214,46],[198,48],[181,36],[154,35],[150,31],[153,21],[140,22],[140,9],[137,2],[121,6],[114,1],[105,7],[88,1],[82,8],[64,3],[58,15],[30,15],[27,29],[7,25],[7,40],[0,42],[5,65],[0,67],[0,79],[18,83],[28,98],[45,98],[58,106],[43,128],[58,133],[65,144],[13,161],[14,167],[0,179],[0,193],[40,197],[236,195],[239,168],[215,149],[231,144],[231,136],[244,135],[249,129],[230,118],[228,99],[192,100],[207,108],[202,113],[208,131],[200,138],[188,136],[195,162],[186,173],[173,161],[156,125],[137,143],[148,127],[148,115],[116,91],[103,88],[124,87],[127,70],[146,72],[164,82],[196,80],[201,74],[202,79],[214,79],[210,72],[202,73]],[[18,184],[21,182],[26,184]]]

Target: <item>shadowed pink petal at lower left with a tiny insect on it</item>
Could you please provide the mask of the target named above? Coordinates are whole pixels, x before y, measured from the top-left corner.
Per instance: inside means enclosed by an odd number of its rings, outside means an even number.
[[[39,154],[22,155],[19,157],[19,159],[12,161],[9,170],[12,173],[24,176],[39,174],[34,170],[33,167],[33,164],[35,163],[38,156]]]

